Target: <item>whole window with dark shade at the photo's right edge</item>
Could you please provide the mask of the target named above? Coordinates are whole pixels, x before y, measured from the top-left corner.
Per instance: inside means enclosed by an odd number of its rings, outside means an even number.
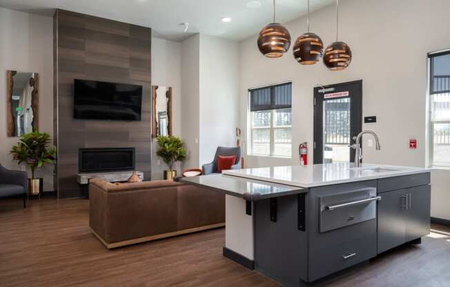
[[[450,50],[429,58],[431,165],[450,166]]]

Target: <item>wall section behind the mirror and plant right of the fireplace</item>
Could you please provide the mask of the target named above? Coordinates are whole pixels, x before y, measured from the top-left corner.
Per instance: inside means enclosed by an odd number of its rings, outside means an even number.
[[[182,136],[182,43],[152,38],[152,85],[172,87],[173,135]],[[162,179],[167,165],[157,157],[152,142],[152,180]],[[180,171],[179,164],[175,168]]]

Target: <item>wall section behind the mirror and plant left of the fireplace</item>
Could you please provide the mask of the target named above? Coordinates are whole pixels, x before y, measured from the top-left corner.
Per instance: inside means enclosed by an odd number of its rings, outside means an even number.
[[[51,17],[0,8],[0,163],[22,169],[8,154],[17,137],[6,133],[6,70],[39,73],[39,131],[53,135],[53,22]],[[53,190],[52,166],[37,171]]]

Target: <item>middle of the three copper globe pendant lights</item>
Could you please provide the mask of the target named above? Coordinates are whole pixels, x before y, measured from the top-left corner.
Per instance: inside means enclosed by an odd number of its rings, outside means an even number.
[[[308,18],[306,20],[308,32],[302,34],[295,41],[293,54],[297,62],[302,65],[313,65],[320,61],[323,55],[324,43],[317,34],[309,32],[309,0],[308,0]]]

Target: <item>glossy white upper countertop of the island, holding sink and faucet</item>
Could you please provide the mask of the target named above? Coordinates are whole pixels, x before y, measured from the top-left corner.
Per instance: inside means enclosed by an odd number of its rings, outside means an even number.
[[[380,168],[382,170],[376,170]],[[384,169],[384,170],[383,170]],[[338,162],[333,164],[314,164],[309,166],[275,166],[268,168],[244,168],[241,170],[223,170],[225,175],[245,177],[262,181],[311,188],[344,184],[346,182],[398,177],[429,172],[429,168],[414,168],[410,166],[385,166],[362,164],[354,168],[353,163]]]

